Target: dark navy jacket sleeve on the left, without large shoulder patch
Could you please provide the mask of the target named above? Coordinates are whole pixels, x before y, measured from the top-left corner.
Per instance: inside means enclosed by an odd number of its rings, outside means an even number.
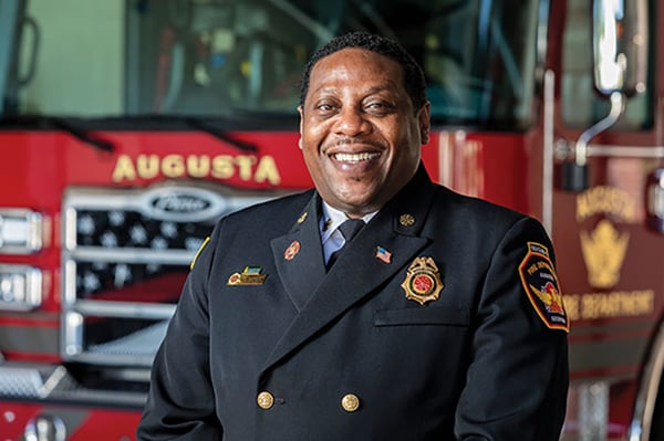
[[[208,280],[217,230],[195,259],[153,365],[138,441],[218,441],[209,370]]]

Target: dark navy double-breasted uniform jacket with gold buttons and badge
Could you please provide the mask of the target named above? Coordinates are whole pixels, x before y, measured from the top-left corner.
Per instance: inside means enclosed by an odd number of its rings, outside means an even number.
[[[539,222],[421,167],[326,272],[320,203],[219,221],[139,440],[558,440],[569,325]]]

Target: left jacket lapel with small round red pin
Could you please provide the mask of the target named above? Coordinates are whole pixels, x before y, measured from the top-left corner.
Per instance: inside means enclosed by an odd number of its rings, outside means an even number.
[[[283,287],[298,311],[302,309],[325,275],[318,207],[319,199],[314,196],[291,231],[270,243]]]

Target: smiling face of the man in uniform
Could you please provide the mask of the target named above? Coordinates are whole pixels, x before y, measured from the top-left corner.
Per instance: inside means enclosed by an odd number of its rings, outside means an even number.
[[[376,211],[411,180],[428,141],[428,104],[415,111],[395,61],[362,49],[321,59],[300,112],[300,148],[330,206]]]

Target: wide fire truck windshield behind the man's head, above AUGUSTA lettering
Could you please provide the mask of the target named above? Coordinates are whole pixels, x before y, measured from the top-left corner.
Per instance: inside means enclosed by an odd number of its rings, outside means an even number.
[[[13,3],[0,8],[0,117],[292,120],[313,51],[369,30],[397,39],[423,65],[435,122],[513,129],[530,124],[547,2]]]

